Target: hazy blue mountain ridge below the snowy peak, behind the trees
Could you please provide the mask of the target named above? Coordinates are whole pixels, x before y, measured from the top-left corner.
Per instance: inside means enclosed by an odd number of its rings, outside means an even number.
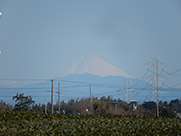
[[[125,92],[126,81],[129,80],[129,92]],[[68,100],[76,100],[81,98],[90,97],[90,85],[92,85],[92,96],[102,97],[111,96],[114,99],[129,101],[150,101],[151,100],[151,84],[132,78],[125,78],[122,76],[97,76],[93,74],[69,74],[64,77],[54,79],[54,103],[58,99],[58,83],[60,83],[60,99],[67,102]],[[25,88],[25,89],[23,89]],[[26,85],[22,89],[13,88],[1,90],[1,100],[12,101],[12,97],[16,93],[24,93],[26,96],[32,96],[36,103],[44,104],[45,97],[47,102],[51,101],[51,81],[46,80],[41,83]],[[29,88],[29,89],[28,89]],[[31,89],[32,88],[32,89]],[[137,91],[131,91],[131,89],[137,89]],[[168,89],[165,93],[159,93],[159,100],[170,101],[176,98],[180,98],[181,91],[175,89]],[[8,96],[8,97],[3,97]]]

